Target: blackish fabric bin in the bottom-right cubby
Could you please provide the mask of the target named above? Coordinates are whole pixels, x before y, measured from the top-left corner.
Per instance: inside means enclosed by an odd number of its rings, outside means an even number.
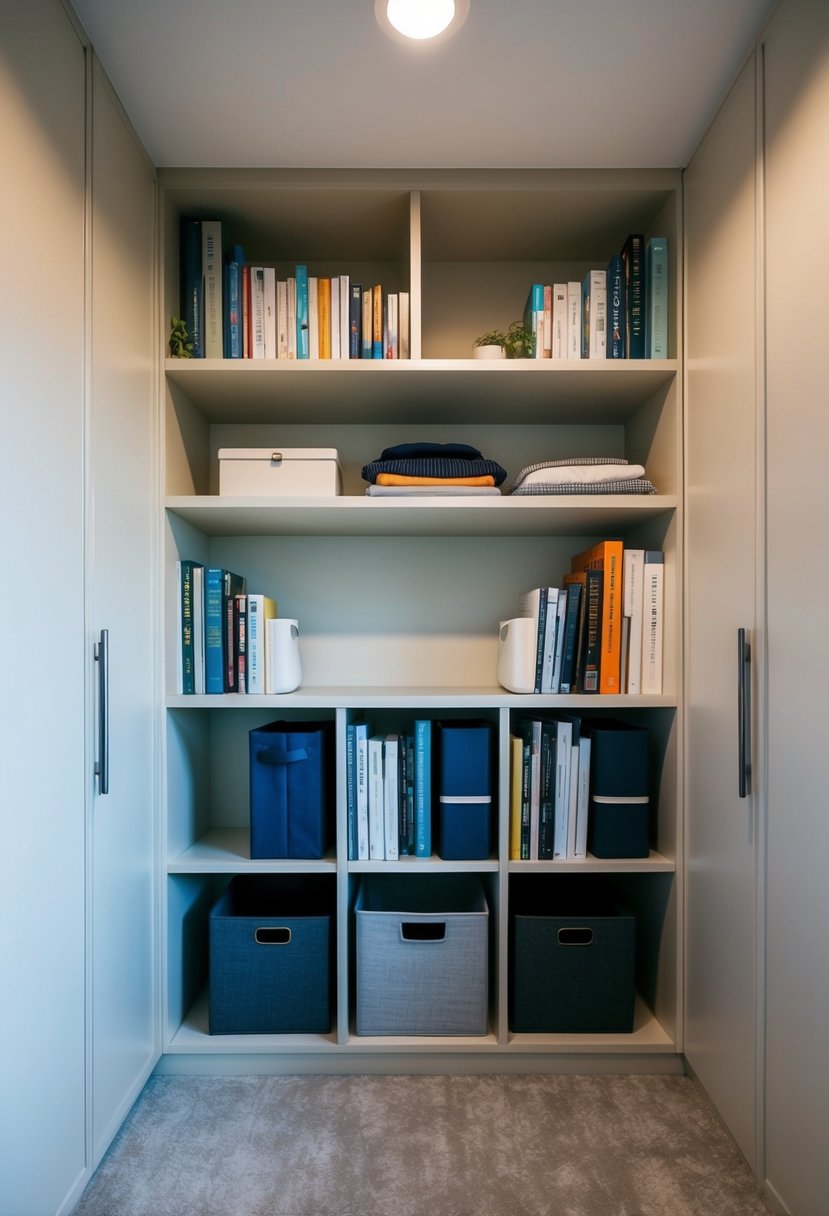
[[[630,1034],[636,918],[590,882],[528,884],[509,899],[509,1029]]]

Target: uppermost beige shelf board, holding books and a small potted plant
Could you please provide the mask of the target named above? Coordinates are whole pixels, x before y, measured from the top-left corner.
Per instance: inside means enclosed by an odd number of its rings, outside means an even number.
[[[168,359],[210,422],[621,423],[677,372],[666,360]]]

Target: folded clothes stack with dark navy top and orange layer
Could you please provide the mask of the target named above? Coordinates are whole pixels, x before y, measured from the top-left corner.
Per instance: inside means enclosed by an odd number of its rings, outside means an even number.
[[[500,495],[506,477],[501,465],[469,444],[396,444],[362,469],[372,496]]]

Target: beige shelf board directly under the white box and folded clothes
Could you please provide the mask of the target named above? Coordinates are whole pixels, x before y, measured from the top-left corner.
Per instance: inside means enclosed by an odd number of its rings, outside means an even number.
[[[181,495],[167,510],[208,536],[617,535],[676,511],[675,495],[370,499]]]

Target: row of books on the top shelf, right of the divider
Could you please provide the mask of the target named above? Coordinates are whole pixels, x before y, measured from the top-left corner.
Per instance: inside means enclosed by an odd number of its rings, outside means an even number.
[[[667,359],[667,238],[632,232],[581,282],[532,283],[524,327],[536,359]]]

